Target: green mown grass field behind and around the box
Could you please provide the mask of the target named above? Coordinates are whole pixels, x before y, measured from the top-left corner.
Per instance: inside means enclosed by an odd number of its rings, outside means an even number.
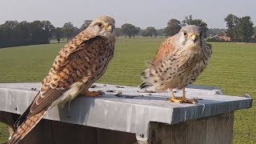
[[[164,39],[118,40],[114,59],[99,82],[138,86],[146,61]],[[225,94],[256,98],[256,45],[213,42],[210,65],[194,84],[221,87]],[[0,82],[39,82],[63,44],[0,49]],[[254,104],[254,103],[253,103]],[[235,112],[234,143],[256,143],[256,108]],[[0,124],[0,143],[8,130]]]

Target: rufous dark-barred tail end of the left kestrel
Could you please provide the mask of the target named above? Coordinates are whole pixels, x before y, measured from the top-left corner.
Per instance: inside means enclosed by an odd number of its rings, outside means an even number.
[[[32,117],[27,118],[25,122],[22,122],[18,129],[11,136],[8,144],[18,144],[38,124],[42,117],[46,114],[46,110],[42,110],[38,114],[34,114]]]

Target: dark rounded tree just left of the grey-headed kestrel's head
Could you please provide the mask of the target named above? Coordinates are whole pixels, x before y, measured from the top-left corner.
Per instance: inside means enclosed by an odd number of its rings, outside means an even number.
[[[177,19],[171,18],[166,26],[166,35],[173,36],[182,29],[182,24]]]

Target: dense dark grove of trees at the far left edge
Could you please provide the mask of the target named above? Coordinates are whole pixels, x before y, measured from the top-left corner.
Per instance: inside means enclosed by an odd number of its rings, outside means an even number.
[[[53,30],[49,21],[6,21],[0,26],[0,47],[50,43]]]

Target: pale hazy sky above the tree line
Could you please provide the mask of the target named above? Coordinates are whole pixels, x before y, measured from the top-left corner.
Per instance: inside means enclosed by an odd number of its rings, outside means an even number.
[[[86,19],[106,14],[115,18],[117,27],[128,22],[143,29],[147,26],[162,28],[170,18],[182,21],[192,14],[210,28],[226,28],[227,14],[249,15],[256,25],[255,6],[255,0],[2,0],[0,23],[50,20],[54,26],[63,26],[65,22],[81,26]]]

